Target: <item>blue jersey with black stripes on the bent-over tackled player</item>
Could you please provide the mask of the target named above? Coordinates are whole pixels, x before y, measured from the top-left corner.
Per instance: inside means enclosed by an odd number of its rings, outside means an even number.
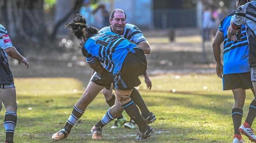
[[[138,48],[135,43],[122,38],[113,32],[101,32],[88,38],[84,45],[85,50],[91,54],[86,57],[87,63],[95,62],[97,58],[102,66],[114,75],[121,71],[122,64],[128,52]]]

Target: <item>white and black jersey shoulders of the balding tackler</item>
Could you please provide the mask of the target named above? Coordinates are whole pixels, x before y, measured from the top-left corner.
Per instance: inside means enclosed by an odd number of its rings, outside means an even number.
[[[100,29],[99,32],[108,32],[111,31],[111,26],[104,27]],[[146,41],[146,38],[143,36],[143,33],[139,30],[139,28],[133,24],[126,24],[124,27],[124,33],[122,36],[130,41],[133,41],[137,44]]]

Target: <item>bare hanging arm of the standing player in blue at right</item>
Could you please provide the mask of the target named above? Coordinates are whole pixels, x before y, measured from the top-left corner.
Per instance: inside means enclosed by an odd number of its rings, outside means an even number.
[[[213,56],[216,61],[216,74],[219,78],[223,77],[223,64],[221,63],[221,43],[224,41],[223,32],[217,31],[213,40]]]

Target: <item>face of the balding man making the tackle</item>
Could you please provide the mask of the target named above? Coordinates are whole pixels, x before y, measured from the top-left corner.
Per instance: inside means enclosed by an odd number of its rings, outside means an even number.
[[[114,33],[123,34],[124,27],[126,24],[125,14],[121,13],[120,11],[116,11],[114,13],[113,19],[109,19],[111,24],[112,30]]]

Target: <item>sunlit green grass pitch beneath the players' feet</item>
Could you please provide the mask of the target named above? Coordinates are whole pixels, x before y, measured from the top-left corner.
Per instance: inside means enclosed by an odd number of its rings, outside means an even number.
[[[144,141],[136,141],[138,129],[104,127],[100,141],[91,139],[90,130],[108,109],[100,93],[89,105],[69,137],[59,143],[228,143],[233,139],[231,91],[222,91],[222,81],[215,74],[167,74],[151,76],[151,91],[143,82],[138,90],[157,120],[155,132]],[[85,85],[72,78],[16,78],[18,121],[15,143],[55,143],[52,134],[66,123],[73,105]],[[173,92],[175,89],[175,92]],[[253,95],[247,91],[245,119]],[[4,120],[5,109],[0,113]],[[128,115],[124,113],[126,119]],[[0,142],[5,130],[0,128]],[[249,140],[244,136],[245,141]]]

